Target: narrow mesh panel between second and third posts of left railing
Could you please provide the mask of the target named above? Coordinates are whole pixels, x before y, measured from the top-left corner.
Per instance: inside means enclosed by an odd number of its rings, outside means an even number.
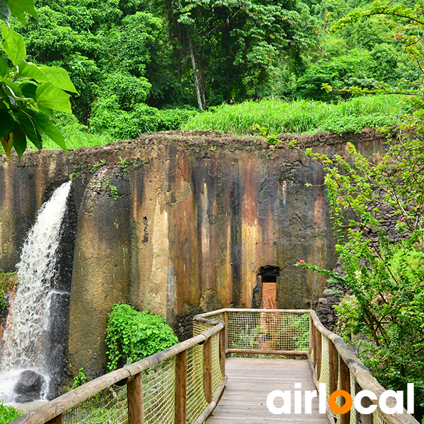
[[[187,424],[192,424],[208,406],[204,394],[203,347],[187,351]]]

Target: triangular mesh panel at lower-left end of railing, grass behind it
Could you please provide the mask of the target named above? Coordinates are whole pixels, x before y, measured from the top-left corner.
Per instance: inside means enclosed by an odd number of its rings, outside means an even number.
[[[69,424],[127,424],[126,386],[111,386],[64,412]]]

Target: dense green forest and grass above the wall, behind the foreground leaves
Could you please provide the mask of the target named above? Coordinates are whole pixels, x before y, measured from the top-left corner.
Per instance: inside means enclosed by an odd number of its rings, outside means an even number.
[[[261,126],[271,130],[343,132],[397,124],[409,108],[401,98],[380,100],[376,108],[370,108],[372,100],[359,100],[343,114],[344,106],[334,110],[331,105],[348,105],[351,94],[336,90],[373,90],[382,82],[404,88],[406,81],[420,78],[396,36],[411,29],[407,20],[375,15],[329,32],[346,13],[370,4],[36,0],[37,18],[33,13],[25,22],[12,16],[10,25],[23,35],[27,62],[69,73],[74,87],[59,88],[71,93],[75,117],[63,108],[55,112],[69,147],[182,126],[247,134],[252,107],[255,114],[269,115]],[[323,83],[336,90],[323,90]],[[261,99],[268,100],[252,103]],[[248,124],[223,122],[221,105]],[[329,113],[323,124],[317,110],[325,107]],[[54,147],[47,138],[43,142]]]

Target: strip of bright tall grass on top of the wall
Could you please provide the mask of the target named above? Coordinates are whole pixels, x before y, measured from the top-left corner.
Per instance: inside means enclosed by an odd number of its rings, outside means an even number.
[[[233,134],[252,134],[252,126],[265,127],[271,134],[314,133],[342,134],[361,129],[391,126],[405,113],[408,103],[396,95],[375,95],[342,101],[338,104],[313,100],[261,100],[239,105],[220,105],[197,114],[183,129],[210,129]]]

